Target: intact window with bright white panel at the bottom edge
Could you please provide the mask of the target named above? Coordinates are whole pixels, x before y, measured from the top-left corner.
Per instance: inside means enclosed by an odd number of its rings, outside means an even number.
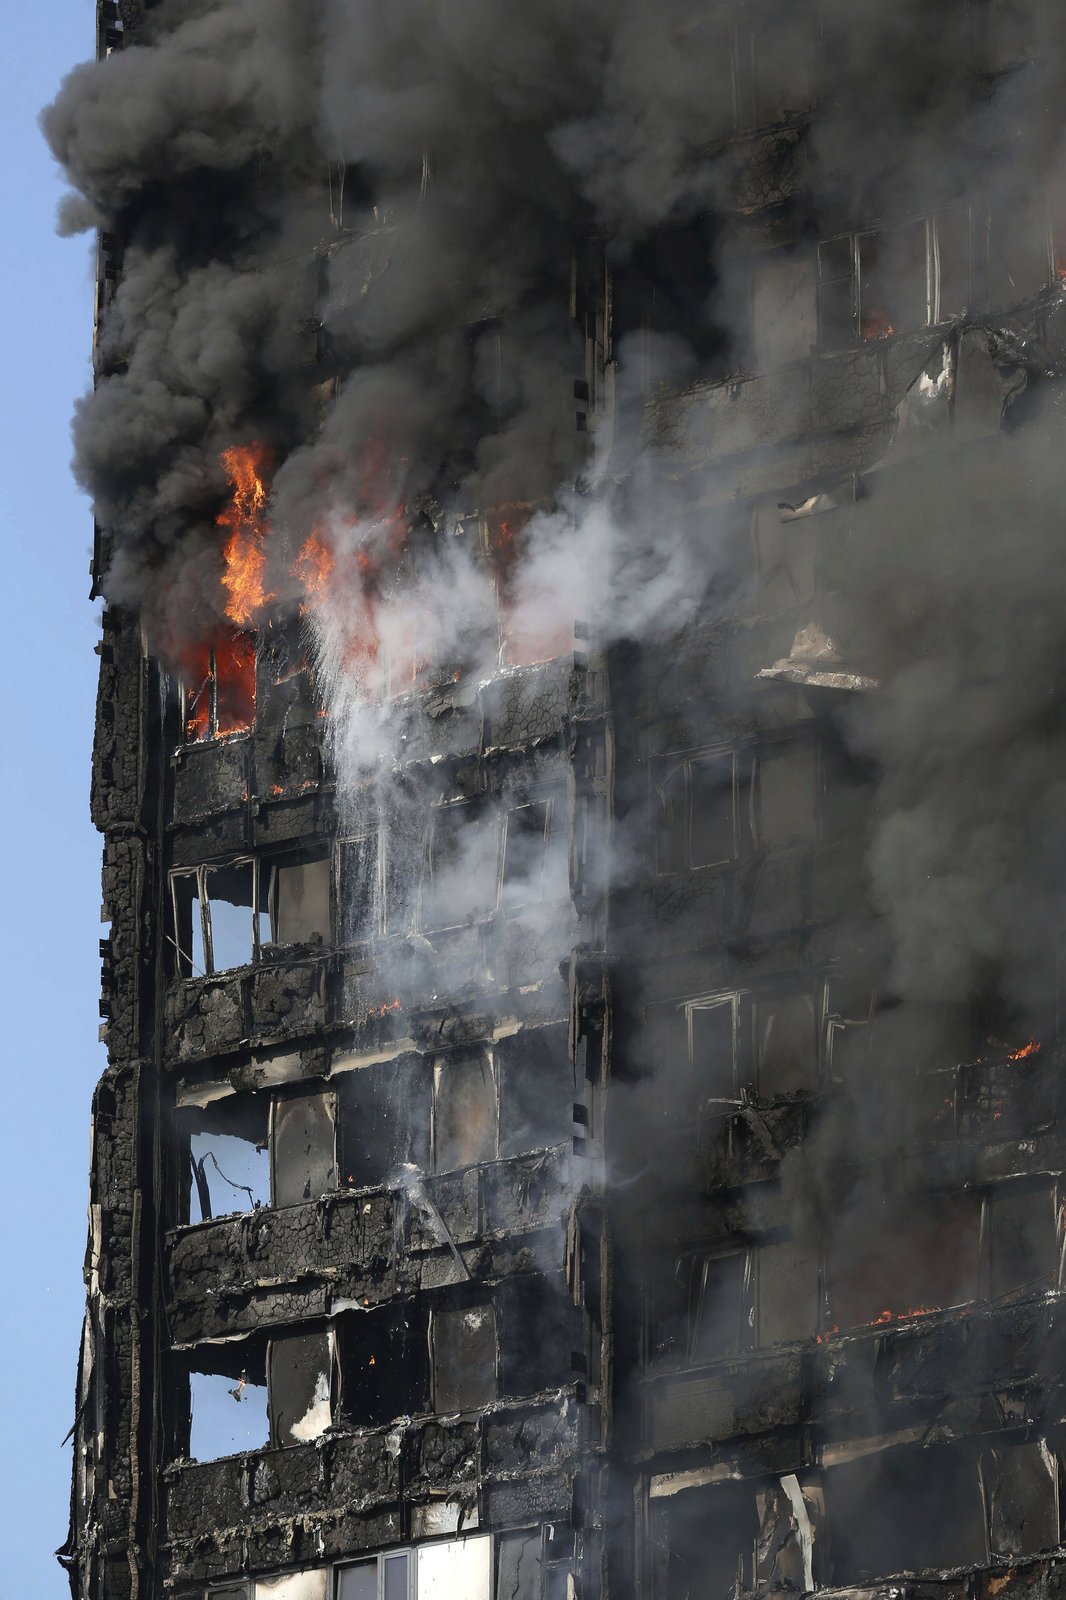
[[[493,1600],[493,1538],[488,1533],[434,1539],[335,1566],[331,1600],[445,1600],[447,1595]],[[538,1594],[528,1590],[528,1600]],[[527,1600],[527,1590],[507,1594],[496,1587],[495,1595],[496,1600],[504,1600],[504,1595],[507,1600]]]

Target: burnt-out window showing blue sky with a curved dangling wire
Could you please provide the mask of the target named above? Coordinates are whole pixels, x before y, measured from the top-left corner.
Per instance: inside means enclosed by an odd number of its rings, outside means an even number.
[[[203,1109],[178,1112],[189,1139],[187,1206],[190,1222],[271,1203],[269,1101],[234,1094]]]

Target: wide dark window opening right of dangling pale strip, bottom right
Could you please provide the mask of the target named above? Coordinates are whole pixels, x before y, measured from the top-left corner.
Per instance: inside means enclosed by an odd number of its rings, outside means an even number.
[[[988,1560],[978,1462],[965,1448],[884,1450],[821,1482],[834,1586]]]

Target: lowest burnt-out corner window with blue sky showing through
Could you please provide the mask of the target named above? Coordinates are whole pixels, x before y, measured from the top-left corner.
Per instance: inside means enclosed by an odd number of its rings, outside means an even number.
[[[266,1344],[237,1339],[203,1346],[178,1358],[184,1384],[176,1384],[176,1454],[218,1461],[271,1442]],[[181,1395],[186,1397],[184,1411]]]

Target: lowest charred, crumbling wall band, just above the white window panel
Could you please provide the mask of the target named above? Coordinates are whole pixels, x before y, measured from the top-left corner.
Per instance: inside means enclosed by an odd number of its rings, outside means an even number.
[[[568,1517],[583,1440],[575,1392],[496,1405],[475,1421],[415,1419],[330,1432],[314,1445],[174,1464],[166,1483],[166,1576],[213,1581],[400,1542],[415,1507],[479,1502],[493,1528]]]

